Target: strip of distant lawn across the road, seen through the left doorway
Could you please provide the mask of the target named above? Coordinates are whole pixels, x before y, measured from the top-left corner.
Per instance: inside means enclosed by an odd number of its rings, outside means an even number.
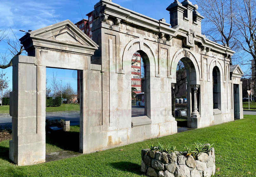
[[[79,111],[79,110],[80,110],[79,104],[62,104],[60,107],[46,107],[46,112]],[[9,113],[9,105],[0,106],[0,113]]]

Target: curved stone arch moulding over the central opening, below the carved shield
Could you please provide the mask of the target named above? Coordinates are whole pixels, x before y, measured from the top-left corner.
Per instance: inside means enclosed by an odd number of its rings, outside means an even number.
[[[196,60],[195,56],[192,54],[189,49],[181,48],[179,49],[175,54],[171,61],[171,67],[170,67],[170,74],[172,78],[172,83],[176,83],[176,68],[177,64],[181,59],[189,59],[192,64],[194,65],[194,72],[196,74],[195,83],[193,84],[199,84],[200,81],[200,75],[201,75],[201,69],[198,61]],[[188,68],[191,69],[191,68]]]

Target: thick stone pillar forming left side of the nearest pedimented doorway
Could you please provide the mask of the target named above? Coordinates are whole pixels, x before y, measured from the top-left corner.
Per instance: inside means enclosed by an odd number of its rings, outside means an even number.
[[[18,166],[45,162],[45,75],[36,58],[17,56],[12,66],[12,140],[9,158]]]

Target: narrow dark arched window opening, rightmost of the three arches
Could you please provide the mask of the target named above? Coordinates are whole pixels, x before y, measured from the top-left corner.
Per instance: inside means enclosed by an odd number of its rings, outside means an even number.
[[[221,110],[220,70],[213,68],[213,109]]]

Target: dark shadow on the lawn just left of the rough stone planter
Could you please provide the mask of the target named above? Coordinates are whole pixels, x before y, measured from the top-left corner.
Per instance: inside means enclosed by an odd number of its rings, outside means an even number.
[[[141,175],[141,166],[136,164],[136,163],[132,163],[132,162],[115,162],[115,163],[110,163],[110,164],[114,168],[116,168],[116,169]]]

